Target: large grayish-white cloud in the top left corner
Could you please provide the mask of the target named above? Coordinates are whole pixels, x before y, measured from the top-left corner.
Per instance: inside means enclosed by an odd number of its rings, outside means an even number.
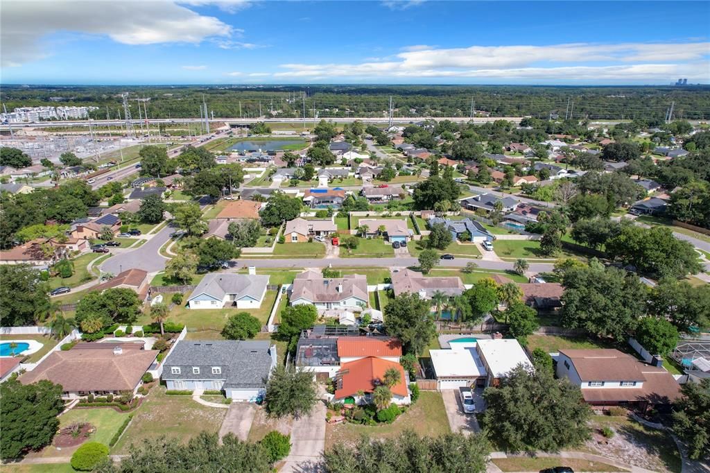
[[[200,43],[237,33],[219,18],[200,15],[171,0],[4,0],[2,65],[18,66],[45,57],[51,51],[40,40],[57,32],[108,36],[128,45]]]

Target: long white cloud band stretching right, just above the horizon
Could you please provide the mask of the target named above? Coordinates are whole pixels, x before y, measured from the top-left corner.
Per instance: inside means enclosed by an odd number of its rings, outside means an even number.
[[[283,64],[274,77],[495,77],[710,81],[710,43],[415,46],[386,62]]]

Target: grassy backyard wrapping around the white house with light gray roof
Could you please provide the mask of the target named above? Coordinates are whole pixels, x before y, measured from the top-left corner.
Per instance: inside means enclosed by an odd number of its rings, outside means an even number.
[[[271,313],[271,308],[276,301],[276,291],[267,290],[261,307],[258,309],[237,309],[237,308],[222,308],[222,309],[188,309],[186,307],[189,294],[185,294],[185,305],[175,306],[168,315],[168,320],[185,324],[188,329],[196,330],[222,330],[224,323],[230,315],[239,312],[247,312],[256,317],[261,325],[266,325],[268,315]],[[151,317],[148,314],[141,314],[136,321],[138,324],[151,323]]]

